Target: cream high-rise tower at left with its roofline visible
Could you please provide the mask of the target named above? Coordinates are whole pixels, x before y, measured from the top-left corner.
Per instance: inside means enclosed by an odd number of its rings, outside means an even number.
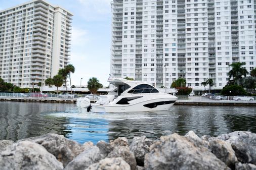
[[[0,77],[32,87],[68,64],[72,14],[43,0],[0,11]]]

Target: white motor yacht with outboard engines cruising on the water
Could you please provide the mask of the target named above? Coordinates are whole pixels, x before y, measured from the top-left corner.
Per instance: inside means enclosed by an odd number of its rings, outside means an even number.
[[[81,112],[132,112],[168,110],[178,99],[168,93],[162,93],[149,83],[111,78],[114,85],[107,95],[101,95],[96,103],[88,98],[78,98],[76,105]]]

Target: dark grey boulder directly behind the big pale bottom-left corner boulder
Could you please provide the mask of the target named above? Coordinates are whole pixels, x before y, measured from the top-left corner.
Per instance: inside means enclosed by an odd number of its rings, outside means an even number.
[[[28,138],[28,140],[44,146],[48,152],[63,163],[64,167],[86,148],[58,134],[46,134]]]

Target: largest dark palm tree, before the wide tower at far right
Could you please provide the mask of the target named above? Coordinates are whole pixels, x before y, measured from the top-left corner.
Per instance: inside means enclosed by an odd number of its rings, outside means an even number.
[[[232,70],[229,71],[228,75],[229,78],[233,77],[233,80],[237,82],[237,85],[240,85],[240,80],[242,79],[242,76],[246,77],[248,74],[248,71],[245,68],[242,68],[245,63],[238,62],[238,63],[232,63],[229,65],[229,67],[232,67]]]

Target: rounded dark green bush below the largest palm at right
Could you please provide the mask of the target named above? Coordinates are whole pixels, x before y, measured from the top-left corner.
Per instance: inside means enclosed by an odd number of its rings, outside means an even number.
[[[223,95],[246,95],[246,91],[237,84],[235,85],[226,85],[223,87],[221,94]]]

